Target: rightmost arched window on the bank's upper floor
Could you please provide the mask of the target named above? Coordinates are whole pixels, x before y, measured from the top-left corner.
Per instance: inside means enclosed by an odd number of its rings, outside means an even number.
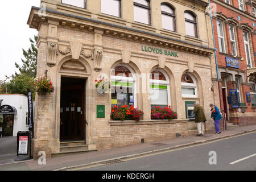
[[[188,11],[185,11],[185,27],[187,35],[197,37],[196,16]]]

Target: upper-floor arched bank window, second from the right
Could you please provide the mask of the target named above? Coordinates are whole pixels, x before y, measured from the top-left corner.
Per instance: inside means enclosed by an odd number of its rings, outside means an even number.
[[[162,27],[166,30],[176,31],[174,9],[166,3],[161,4]]]

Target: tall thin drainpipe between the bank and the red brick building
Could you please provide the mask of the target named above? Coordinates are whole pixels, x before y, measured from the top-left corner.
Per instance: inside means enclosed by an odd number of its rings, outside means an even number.
[[[216,44],[215,44],[215,38],[214,38],[214,30],[213,30],[213,21],[212,21],[212,9],[210,8],[210,0],[208,0],[209,2],[209,11],[210,11],[210,22],[212,23],[212,36],[213,36],[213,46],[214,46],[214,56],[215,56],[215,64],[216,64],[216,71],[217,71],[217,79],[218,79],[218,95],[220,97],[220,110],[222,113],[222,106],[221,106],[221,92],[220,92],[220,77],[218,76],[218,63],[217,63],[217,53],[216,53]],[[223,114],[223,113],[222,113]],[[224,130],[226,130],[226,119],[225,119],[225,114],[223,117],[223,127]]]

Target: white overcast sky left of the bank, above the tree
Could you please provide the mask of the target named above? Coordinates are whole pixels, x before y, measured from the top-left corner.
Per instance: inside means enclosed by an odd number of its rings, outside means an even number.
[[[14,63],[22,64],[22,48],[27,50],[31,44],[29,38],[38,34],[27,24],[31,6],[40,7],[40,0],[1,1],[0,80],[19,72]]]

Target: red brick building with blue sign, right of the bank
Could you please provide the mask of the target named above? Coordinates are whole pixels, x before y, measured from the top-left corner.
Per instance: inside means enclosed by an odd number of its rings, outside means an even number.
[[[221,110],[228,122],[255,125],[256,1],[212,0],[211,4],[215,11],[213,28],[221,78]],[[234,89],[234,97],[230,89]]]

